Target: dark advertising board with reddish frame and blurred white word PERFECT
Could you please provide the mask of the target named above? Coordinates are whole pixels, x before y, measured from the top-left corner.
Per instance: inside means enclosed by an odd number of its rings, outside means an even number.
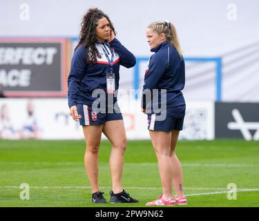
[[[65,39],[0,39],[0,84],[7,97],[66,95]]]

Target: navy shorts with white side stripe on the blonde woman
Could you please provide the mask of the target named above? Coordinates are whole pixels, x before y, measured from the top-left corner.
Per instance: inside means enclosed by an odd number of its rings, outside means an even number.
[[[170,117],[166,115],[164,120],[156,120],[157,115],[148,115],[148,130],[150,131],[182,131],[184,117]]]

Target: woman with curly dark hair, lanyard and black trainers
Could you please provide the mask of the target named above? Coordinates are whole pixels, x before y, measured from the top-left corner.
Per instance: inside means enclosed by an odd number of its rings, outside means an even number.
[[[138,202],[122,189],[126,133],[117,106],[119,66],[135,66],[135,57],[115,38],[113,23],[102,10],[90,8],[81,22],[68,77],[70,115],[83,127],[86,140],[84,164],[92,201],[105,203],[98,184],[98,153],[102,133],[112,144],[111,203]]]

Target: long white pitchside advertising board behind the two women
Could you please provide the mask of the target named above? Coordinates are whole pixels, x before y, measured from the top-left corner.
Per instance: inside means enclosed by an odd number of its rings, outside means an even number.
[[[213,102],[187,102],[180,139],[213,139]],[[140,100],[119,101],[128,140],[147,140],[147,117]],[[0,99],[0,137],[4,139],[84,139],[78,122],[70,117],[66,99]],[[102,137],[105,139],[105,137]]]

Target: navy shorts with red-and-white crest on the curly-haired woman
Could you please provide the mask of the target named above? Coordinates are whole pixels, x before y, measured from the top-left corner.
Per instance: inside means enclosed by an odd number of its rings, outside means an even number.
[[[91,106],[77,104],[77,113],[81,115],[79,119],[80,125],[102,125],[111,120],[119,120],[122,118],[122,113],[97,113],[92,111]]]

